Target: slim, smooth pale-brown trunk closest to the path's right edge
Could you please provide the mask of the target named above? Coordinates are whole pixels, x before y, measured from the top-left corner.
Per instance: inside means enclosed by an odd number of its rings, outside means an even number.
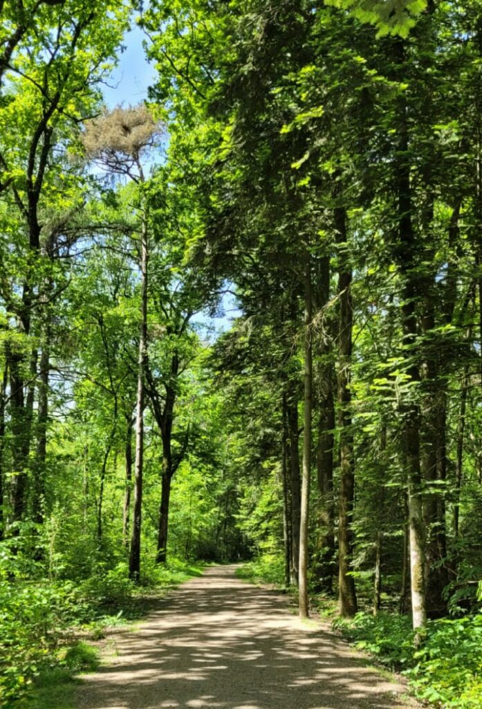
[[[311,411],[313,407],[313,295],[311,292],[311,257],[304,254],[304,429],[303,476],[299,523],[299,615],[308,618],[308,524],[311,479]]]

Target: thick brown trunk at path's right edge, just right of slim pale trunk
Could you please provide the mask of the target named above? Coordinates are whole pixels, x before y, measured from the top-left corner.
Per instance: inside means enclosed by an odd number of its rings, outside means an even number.
[[[338,585],[340,615],[357,612],[355,580],[351,576],[353,535],[351,530],[355,498],[353,435],[351,431],[350,371],[352,357],[352,272],[348,260],[346,214],[343,206],[335,208],[338,244],[338,425],[340,427],[340,520],[338,525]]]

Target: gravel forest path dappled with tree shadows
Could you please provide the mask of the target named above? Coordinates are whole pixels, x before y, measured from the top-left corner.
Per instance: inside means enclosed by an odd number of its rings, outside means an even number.
[[[79,709],[415,706],[328,627],[301,623],[284,596],[235,571],[206,569],[116,635],[115,657],[79,687]]]

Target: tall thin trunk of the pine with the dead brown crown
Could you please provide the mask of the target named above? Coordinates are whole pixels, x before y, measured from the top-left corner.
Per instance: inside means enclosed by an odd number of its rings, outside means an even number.
[[[144,463],[144,386],[147,365],[147,267],[149,248],[147,243],[146,216],[141,230],[141,325],[139,333],[139,359],[137,372],[136,403],[136,456],[134,467],[134,510],[132,515],[132,535],[130,540],[129,576],[139,582],[141,569],[141,528],[142,528],[142,478]]]

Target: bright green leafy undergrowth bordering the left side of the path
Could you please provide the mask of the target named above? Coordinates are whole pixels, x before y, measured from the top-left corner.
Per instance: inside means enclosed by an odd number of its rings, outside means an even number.
[[[114,569],[99,564],[95,575],[79,581],[27,581],[1,571],[0,566],[0,705],[45,709],[43,694],[57,693],[64,697],[59,707],[68,709],[73,674],[96,662],[93,649],[76,637],[99,640],[108,627],[142,618],[149,594],[157,597],[200,575],[202,564],[177,559],[167,566],[152,564],[140,587],[130,581],[124,563]],[[51,705],[57,706],[49,699]]]

